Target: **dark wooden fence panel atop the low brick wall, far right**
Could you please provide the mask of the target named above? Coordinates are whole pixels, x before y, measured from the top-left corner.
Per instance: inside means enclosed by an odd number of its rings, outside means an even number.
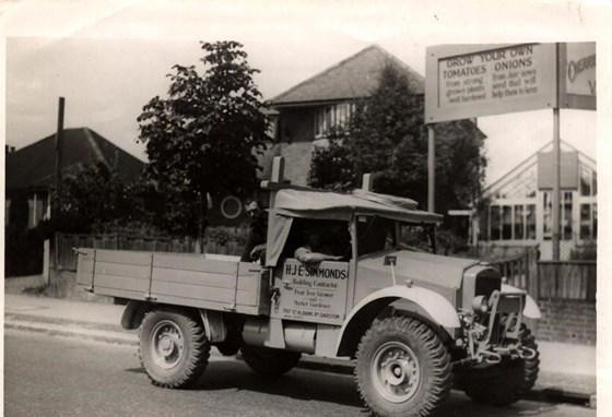
[[[596,301],[596,261],[539,261],[540,299]]]

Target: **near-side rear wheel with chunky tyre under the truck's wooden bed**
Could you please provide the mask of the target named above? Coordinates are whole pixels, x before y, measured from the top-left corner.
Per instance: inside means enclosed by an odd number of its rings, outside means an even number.
[[[210,343],[204,329],[184,312],[149,312],[139,338],[140,362],[155,385],[190,388],[209,362]]]

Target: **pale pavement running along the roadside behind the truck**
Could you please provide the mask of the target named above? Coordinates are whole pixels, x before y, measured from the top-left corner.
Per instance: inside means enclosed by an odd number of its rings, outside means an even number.
[[[120,326],[123,306],[31,295],[4,295],[4,329],[138,345],[136,331]],[[540,374],[528,400],[597,407],[596,347],[538,341]],[[212,355],[221,355],[213,349]],[[354,364],[306,355],[298,367],[352,374]]]

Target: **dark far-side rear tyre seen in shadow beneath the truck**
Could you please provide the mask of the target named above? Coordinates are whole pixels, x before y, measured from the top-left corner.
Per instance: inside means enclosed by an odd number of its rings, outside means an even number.
[[[243,358],[250,369],[266,376],[281,376],[292,370],[302,354],[298,352],[271,349],[269,347],[243,346]]]

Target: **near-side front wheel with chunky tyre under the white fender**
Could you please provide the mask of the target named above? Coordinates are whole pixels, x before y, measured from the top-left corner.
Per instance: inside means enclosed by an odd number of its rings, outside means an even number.
[[[423,322],[375,320],[357,348],[355,377],[361,397],[377,416],[429,416],[450,395],[450,356]]]

